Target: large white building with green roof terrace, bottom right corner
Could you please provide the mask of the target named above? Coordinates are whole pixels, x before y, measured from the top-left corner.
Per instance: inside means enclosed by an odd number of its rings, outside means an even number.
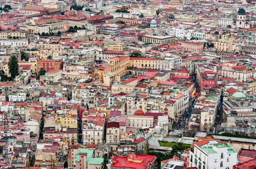
[[[237,164],[237,152],[215,139],[203,139],[195,143],[194,151],[189,151],[189,157],[189,167],[202,169],[226,169]]]

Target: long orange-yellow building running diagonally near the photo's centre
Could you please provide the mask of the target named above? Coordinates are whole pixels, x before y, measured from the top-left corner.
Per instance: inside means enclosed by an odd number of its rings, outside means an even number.
[[[129,67],[130,57],[111,58],[109,63],[105,63],[99,67],[99,78],[102,79],[106,73],[116,73],[118,76],[126,74],[126,69]]]

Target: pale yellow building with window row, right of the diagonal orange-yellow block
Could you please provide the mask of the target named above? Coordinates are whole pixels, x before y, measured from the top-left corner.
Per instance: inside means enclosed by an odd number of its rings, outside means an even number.
[[[130,58],[130,67],[154,69],[155,58]]]

